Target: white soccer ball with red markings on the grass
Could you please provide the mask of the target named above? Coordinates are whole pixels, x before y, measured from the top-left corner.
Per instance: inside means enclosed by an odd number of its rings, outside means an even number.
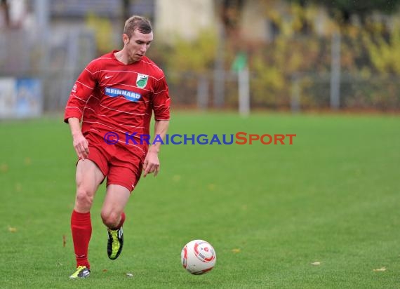
[[[180,253],[183,268],[194,275],[201,275],[213,269],[217,254],[213,246],[204,240],[190,241]]]

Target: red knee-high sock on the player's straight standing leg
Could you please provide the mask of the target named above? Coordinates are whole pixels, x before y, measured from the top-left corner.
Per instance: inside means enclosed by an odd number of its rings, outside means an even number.
[[[90,269],[88,248],[92,236],[91,213],[78,213],[74,210],[71,216],[71,231],[72,241],[74,241],[76,267],[86,266]]]

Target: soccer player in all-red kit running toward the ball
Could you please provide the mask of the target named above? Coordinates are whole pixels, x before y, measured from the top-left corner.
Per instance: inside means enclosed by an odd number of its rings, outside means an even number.
[[[64,121],[71,128],[76,164],[76,198],[71,217],[76,271],[69,278],[91,274],[88,246],[91,206],[107,178],[102,222],[107,227],[107,255],[115,260],[124,245],[124,208],[140,179],[159,173],[160,142],[149,146],[154,112],[154,135],[164,139],[170,117],[164,72],[145,56],[152,43],[152,25],[132,16],[125,22],[124,47],[91,61],[69,95]],[[82,120],[82,124],[80,123]],[[142,138],[142,139],[141,139]]]

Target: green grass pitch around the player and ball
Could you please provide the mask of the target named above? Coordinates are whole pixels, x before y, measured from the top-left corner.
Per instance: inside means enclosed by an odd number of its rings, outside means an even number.
[[[175,113],[169,133],[295,133],[293,145],[164,145],[107,258],[95,198],[92,274],[69,280],[76,156],[59,118],[0,123],[1,288],[398,288],[400,117]],[[217,252],[204,276],[180,250]],[[126,274],[133,274],[132,277]]]

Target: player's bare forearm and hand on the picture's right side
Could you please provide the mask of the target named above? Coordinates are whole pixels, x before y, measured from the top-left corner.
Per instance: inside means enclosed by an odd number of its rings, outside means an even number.
[[[156,121],[154,124],[154,135],[159,140],[165,140],[166,133],[168,131],[169,121]],[[160,161],[159,152],[161,149],[161,141],[154,142],[147,152],[145,162],[143,163],[143,170],[145,173],[143,177],[146,177],[148,173],[154,173],[154,177],[159,173]]]

